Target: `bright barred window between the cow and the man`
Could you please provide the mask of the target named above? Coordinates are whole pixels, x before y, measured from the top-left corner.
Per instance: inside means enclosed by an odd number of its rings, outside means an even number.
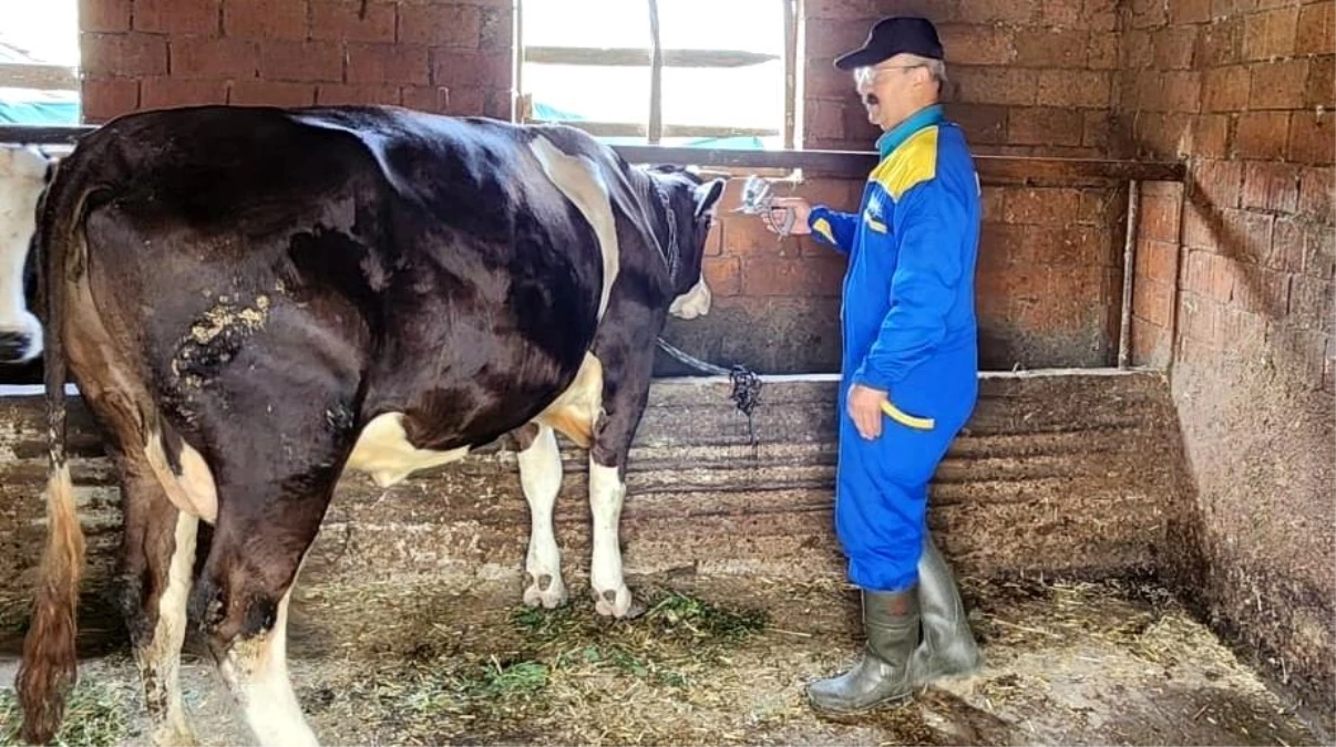
[[[521,121],[609,144],[795,145],[798,0],[521,0]]]

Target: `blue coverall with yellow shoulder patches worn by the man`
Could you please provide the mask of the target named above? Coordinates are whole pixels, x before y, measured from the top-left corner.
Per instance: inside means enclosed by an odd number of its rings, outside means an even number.
[[[974,267],[981,191],[961,128],[941,105],[878,140],[859,212],[812,208],[820,243],[848,255],[835,530],[850,580],[874,592],[918,580],[927,486],[978,399]],[[846,400],[855,383],[908,415],[863,439]],[[931,419],[931,423],[919,419]],[[910,424],[904,424],[904,423]]]

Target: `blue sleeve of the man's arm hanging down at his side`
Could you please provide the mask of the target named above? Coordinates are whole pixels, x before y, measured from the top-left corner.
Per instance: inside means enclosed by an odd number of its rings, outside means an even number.
[[[946,315],[963,275],[967,231],[965,205],[935,180],[907,192],[898,213],[903,217],[891,311],[854,374],[854,382],[882,391],[902,380],[946,336]]]

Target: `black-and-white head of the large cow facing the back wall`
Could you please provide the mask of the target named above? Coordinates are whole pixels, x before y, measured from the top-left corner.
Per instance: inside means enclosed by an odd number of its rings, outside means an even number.
[[[667,212],[668,236],[660,236],[672,267],[673,301],[668,313],[695,319],[709,313],[709,285],[703,272],[705,237],[724,193],[724,179],[703,180],[675,165],[649,169]]]

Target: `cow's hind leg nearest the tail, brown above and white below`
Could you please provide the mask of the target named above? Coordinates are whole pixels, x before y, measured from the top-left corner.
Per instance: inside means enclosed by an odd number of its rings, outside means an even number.
[[[180,696],[180,648],[199,519],[176,510],[143,459],[124,470],[122,614],[139,664],[155,747],[195,744]]]

